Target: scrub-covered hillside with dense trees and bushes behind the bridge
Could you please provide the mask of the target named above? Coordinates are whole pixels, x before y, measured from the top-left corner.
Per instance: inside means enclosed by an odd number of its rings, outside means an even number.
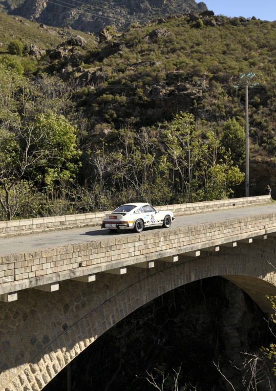
[[[230,196],[244,171],[242,72],[259,83],[252,193],[274,179],[276,22],[205,12],[40,47],[30,55],[20,35],[2,45],[1,219]]]

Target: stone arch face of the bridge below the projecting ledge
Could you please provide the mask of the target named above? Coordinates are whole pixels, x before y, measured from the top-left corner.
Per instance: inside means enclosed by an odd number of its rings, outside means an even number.
[[[101,273],[92,283],[67,280],[52,293],[26,289],[18,301],[0,304],[1,390],[41,390],[107,329],[189,282],[222,276],[269,312],[265,295],[276,295],[274,241],[269,242],[196,259],[182,256],[176,263],[156,261],[154,269],[128,267],[122,276]]]

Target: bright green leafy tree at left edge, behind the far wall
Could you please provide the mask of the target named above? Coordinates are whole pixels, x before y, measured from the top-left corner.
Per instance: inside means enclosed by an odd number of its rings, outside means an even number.
[[[74,177],[79,156],[76,128],[62,115],[50,112],[31,124],[19,121],[14,131],[0,128],[0,205],[6,219],[16,214],[11,195],[21,178],[40,176],[52,190],[55,182]]]

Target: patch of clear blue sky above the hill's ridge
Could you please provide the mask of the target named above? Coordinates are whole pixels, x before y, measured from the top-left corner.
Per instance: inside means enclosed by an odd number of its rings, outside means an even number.
[[[196,0],[199,2],[199,0]],[[215,15],[276,21],[276,0],[203,0]]]

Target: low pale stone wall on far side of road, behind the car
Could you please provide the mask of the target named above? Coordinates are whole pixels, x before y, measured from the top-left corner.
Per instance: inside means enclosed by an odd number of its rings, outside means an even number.
[[[232,209],[247,205],[263,204],[270,201],[269,195],[255,197],[243,197],[223,199],[217,201],[196,202],[191,204],[162,205],[156,209],[173,211],[175,216],[204,213],[219,209]],[[0,221],[0,237],[6,235],[17,235],[22,233],[47,231],[53,229],[64,229],[71,227],[82,227],[86,225],[99,225],[106,212],[84,213],[80,215],[65,215],[55,217],[30,218],[12,221]]]

